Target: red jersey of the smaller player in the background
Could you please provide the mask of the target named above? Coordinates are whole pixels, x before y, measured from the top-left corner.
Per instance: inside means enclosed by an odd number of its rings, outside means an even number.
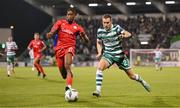
[[[44,42],[42,40],[32,40],[29,43],[29,47],[33,49],[34,57],[37,55],[42,55],[41,49],[45,46]]]

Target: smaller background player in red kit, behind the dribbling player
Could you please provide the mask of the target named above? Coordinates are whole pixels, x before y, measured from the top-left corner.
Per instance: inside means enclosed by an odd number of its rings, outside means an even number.
[[[39,33],[34,33],[34,39],[29,43],[28,49],[31,50],[33,49],[34,53],[34,66],[36,67],[38,71],[38,76],[40,74],[43,74],[43,78],[46,77],[46,74],[44,73],[44,70],[40,64],[40,60],[43,56],[42,51],[46,49],[46,45],[44,42],[40,39]]]

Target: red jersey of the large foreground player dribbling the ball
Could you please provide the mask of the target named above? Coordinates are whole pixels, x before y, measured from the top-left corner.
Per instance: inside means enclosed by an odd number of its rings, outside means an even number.
[[[58,20],[52,27],[51,31],[58,31],[58,41],[55,51],[61,48],[76,46],[76,36],[84,32],[84,29],[76,22],[69,24],[67,20]]]

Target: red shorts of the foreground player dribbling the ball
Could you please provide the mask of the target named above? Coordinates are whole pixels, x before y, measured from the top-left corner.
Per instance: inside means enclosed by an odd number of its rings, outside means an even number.
[[[59,68],[64,67],[64,57],[67,53],[72,54],[72,59],[73,56],[75,55],[75,48],[74,47],[69,47],[69,48],[61,48],[56,51],[56,62]]]

